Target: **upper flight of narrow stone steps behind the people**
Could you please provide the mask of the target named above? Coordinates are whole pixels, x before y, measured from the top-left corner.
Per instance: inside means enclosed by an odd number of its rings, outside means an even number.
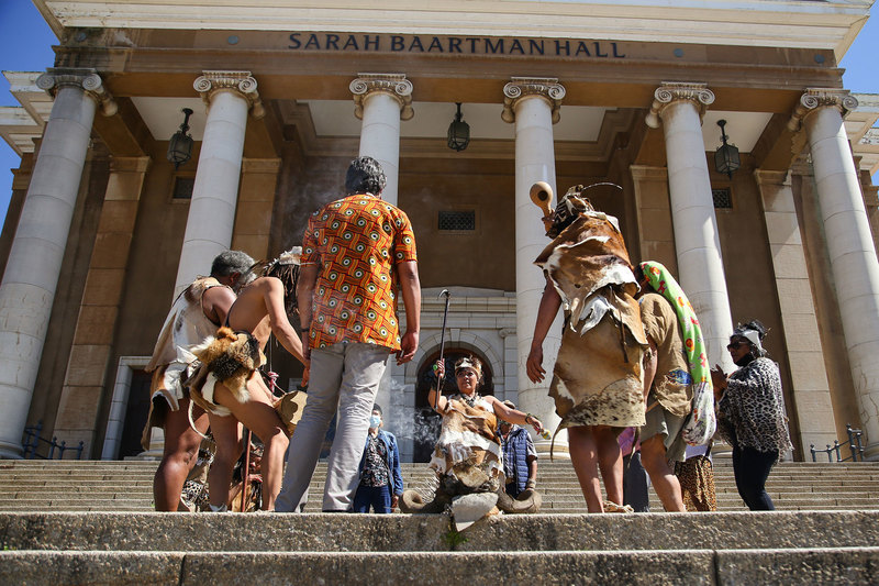
[[[0,461],[0,511],[152,511],[156,462]],[[407,488],[426,487],[426,464],[403,464]],[[305,512],[319,512],[324,463],[311,483]],[[714,461],[720,511],[747,510],[735,488],[728,458]],[[541,461],[537,488],[545,513],[586,512],[569,462]],[[769,475],[767,490],[778,510],[879,510],[879,463],[788,462]],[[650,490],[650,510],[663,507]]]

